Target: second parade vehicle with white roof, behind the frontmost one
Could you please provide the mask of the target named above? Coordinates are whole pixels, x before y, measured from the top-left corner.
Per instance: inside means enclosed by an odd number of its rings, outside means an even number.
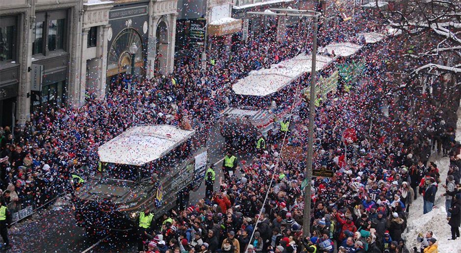
[[[316,70],[322,70],[333,59],[317,55]],[[232,86],[233,99],[221,120],[221,133],[226,140],[244,134],[245,140],[251,142],[260,135],[266,136],[269,130],[277,131],[280,122],[289,117],[296,84],[301,76],[310,73],[311,64],[312,55],[303,53],[238,80]],[[300,103],[295,99],[294,106]]]

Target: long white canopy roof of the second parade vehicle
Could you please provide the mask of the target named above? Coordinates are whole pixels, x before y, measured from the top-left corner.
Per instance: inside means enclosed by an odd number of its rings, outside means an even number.
[[[319,71],[333,61],[333,57],[317,55],[315,70]],[[273,64],[270,69],[260,69],[237,81],[232,90],[238,95],[267,96],[290,84],[304,73],[310,73],[312,55],[299,54],[291,59]]]

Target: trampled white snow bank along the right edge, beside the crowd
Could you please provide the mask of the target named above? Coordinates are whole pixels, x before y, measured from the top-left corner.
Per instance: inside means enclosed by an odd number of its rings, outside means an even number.
[[[456,140],[461,140],[461,106],[458,107],[458,122],[456,128]],[[440,253],[461,253],[461,240],[448,240],[451,238],[450,226],[446,219],[447,212],[445,210],[445,197],[442,194],[445,189],[441,184],[445,183],[447,178],[448,167],[450,160],[448,157],[442,157],[434,152],[429,161],[435,162],[440,172],[440,183],[435,195],[435,206],[431,212],[423,215],[423,197],[418,193],[418,199],[410,205],[410,214],[408,217],[408,226],[403,235],[407,247],[410,252],[413,252],[413,247],[418,248],[420,244],[416,241],[418,233],[426,234],[428,230],[434,232],[437,238],[438,252]]]

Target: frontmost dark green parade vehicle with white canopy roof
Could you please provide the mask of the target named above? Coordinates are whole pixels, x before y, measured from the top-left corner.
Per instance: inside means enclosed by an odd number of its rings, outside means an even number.
[[[131,127],[98,149],[101,169],[76,192],[77,225],[128,231],[139,213],[154,219],[197,190],[207,167],[207,134],[169,125]]]

